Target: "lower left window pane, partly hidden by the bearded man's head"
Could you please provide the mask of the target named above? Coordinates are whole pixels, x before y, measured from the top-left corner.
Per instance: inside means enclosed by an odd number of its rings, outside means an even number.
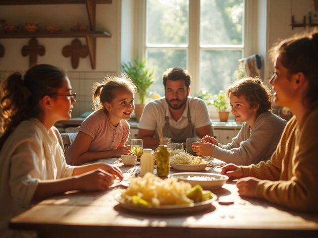
[[[155,76],[158,79],[150,87],[150,91],[156,91],[160,96],[164,95],[162,73],[171,67],[187,68],[187,50],[148,49],[147,63],[155,67]]]

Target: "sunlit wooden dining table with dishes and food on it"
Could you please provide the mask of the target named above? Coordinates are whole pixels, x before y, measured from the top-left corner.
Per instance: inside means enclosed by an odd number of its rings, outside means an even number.
[[[118,166],[125,179],[137,177],[140,163],[120,158],[98,162]],[[221,172],[211,159],[204,173]],[[170,174],[178,173],[170,168]],[[156,174],[156,170],[154,172]],[[201,211],[145,214],[122,208],[114,185],[105,192],[71,191],[48,198],[12,218],[10,229],[36,231],[39,238],[317,238],[318,214],[292,211],[265,200],[241,197],[235,181],[211,190],[218,199]]]

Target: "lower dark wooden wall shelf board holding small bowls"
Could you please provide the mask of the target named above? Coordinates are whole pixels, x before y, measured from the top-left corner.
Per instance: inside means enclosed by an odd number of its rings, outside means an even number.
[[[111,37],[106,31],[58,31],[58,32],[0,32],[2,38],[76,38],[87,35],[97,37]]]

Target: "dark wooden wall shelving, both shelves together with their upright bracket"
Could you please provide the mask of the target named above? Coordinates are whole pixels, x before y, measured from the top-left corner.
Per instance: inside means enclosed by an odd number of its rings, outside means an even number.
[[[0,32],[1,38],[77,38],[85,37],[89,51],[91,68],[96,68],[96,38],[111,37],[106,31],[95,31],[95,9],[98,3],[112,3],[112,0],[0,0],[0,5],[31,5],[31,4],[86,4],[89,18],[89,31],[73,32]]]

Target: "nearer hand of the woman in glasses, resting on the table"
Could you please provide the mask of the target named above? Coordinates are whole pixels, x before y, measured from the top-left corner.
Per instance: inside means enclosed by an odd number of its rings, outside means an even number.
[[[77,177],[77,187],[81,191],[105,191],[112,183],[113,175],[101,169]]]

